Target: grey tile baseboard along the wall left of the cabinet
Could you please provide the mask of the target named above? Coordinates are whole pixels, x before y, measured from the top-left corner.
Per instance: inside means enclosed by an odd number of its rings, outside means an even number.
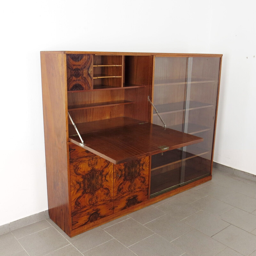
[[[48,210],[44,211],[44,212],[38,212],[36,214],[30,215],[28,217],[22,218],[20,220],[15,220],[12,221],[8,224],[4,224],[2,226],[0,226],[0,235],[3,235],[5,233],[8,233],[12,230],[15,230],[17,228],[22,228],[25,227],[29,224],[32,224],[34,222],[40,221],[40,220],[44,220],[49,218],[49,213]]]

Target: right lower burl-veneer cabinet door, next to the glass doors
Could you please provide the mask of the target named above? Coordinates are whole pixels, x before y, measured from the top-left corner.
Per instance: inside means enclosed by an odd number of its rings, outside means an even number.
[[[149,157],[114,165],[114,212],[148,200]]]

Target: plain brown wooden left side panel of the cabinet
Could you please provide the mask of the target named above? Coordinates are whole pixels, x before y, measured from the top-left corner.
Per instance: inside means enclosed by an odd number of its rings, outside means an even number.
[[[50,218],[70,233],[66,55],[41,54],[44,143]]]

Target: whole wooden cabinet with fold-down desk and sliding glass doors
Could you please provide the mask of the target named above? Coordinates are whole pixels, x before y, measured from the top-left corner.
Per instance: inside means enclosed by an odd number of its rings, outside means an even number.
[[[41,52],[60,228],[75,236],[211,179],[221,56]]]

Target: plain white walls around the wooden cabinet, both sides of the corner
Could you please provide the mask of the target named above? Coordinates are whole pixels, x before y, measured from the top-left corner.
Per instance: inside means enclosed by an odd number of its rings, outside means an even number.
[[[48,208],[40,51],[223,53],[214,160],[256,174],[252,11],[238,20],[219,0],[25,0],[1,8],[0,225]]]

